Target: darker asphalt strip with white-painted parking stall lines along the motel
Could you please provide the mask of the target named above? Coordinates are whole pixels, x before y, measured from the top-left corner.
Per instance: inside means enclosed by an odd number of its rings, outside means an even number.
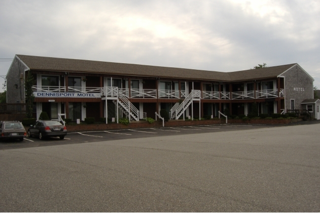
[[[62,144],[90,143],[98,141],[135,139],[159,136],[176,136],[198,133],[216,133],[237,130],[257,129],[261,127],[276,127],[274,125],[264,124],[217,124],[217,125],[197,125],[197,126],[179,126],[179,127],[162,127],[148,129],[132,130],[109,130],[109,131],[88,131],[68,133],[67,136],[60,140],[58,137],[46,138],[40,140],[38,137],[28,138],[20,142],[18,140],[0,141],[0,150],[18,149],[26,147],[54,146]]]

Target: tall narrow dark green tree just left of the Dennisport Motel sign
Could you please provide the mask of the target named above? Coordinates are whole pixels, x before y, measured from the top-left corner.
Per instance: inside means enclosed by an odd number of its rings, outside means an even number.
[[[27,118],[32,118],[32,109],[34,95],[32,91],[32,86],[35,83],[33,76],[30,71],[28,71],[27,77],[25,78],[25,103],[26,103],[26,116]]]

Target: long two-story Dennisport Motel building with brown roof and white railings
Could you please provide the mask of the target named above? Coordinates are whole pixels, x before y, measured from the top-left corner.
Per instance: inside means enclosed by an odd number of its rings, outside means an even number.
[[[307,109],[320,119],[313,99],[313,78],[299,64],[217,72],[101,61],[16,55],[7,74],[7,103],[25,103],[24,80],[31,72],[34,118],[45,111],[73,121],[94,117],[115,122],[155,118],[166,109],[170,119],[288,113]],[[113,119],[112,119],[113,118]]]

